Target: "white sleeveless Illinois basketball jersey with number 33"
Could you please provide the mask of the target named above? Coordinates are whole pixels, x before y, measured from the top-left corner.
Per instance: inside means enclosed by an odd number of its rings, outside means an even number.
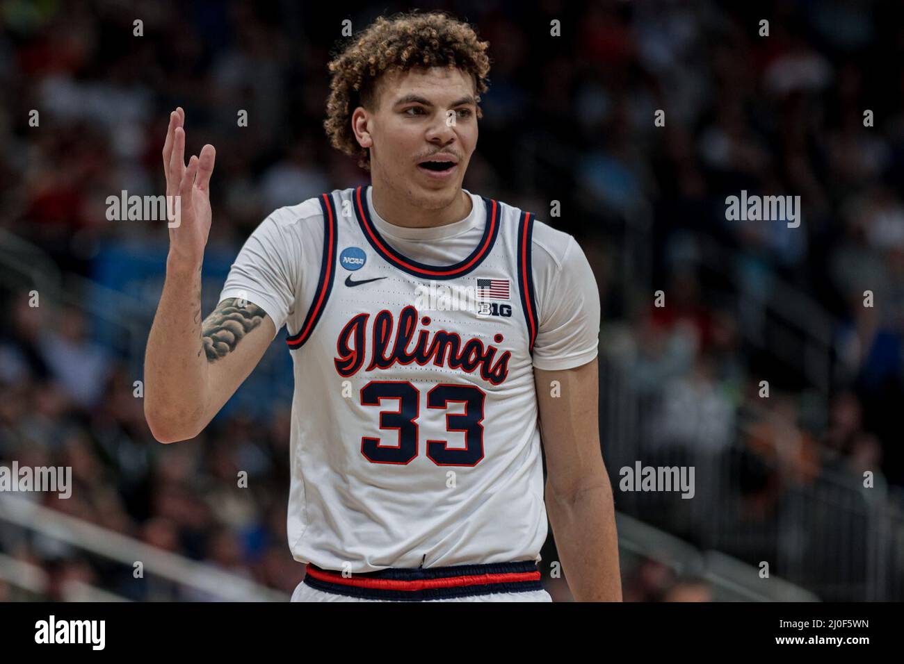
[[[475,250],[429,266],[381,237],[366,195],[320,197],[320,279],[287,320],[292,553],[354,573],[539,560],[532,215],[482,199]]]

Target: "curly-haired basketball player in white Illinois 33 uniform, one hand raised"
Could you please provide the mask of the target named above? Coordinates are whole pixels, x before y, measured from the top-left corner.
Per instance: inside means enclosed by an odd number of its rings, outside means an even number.
[[[274,211],[203,323],[215,153],[186,165],[184,112],[170,116],[181,219],[147,342],[147,422],[162,443],[197,435],[286,325],[288,544],[307,564],[295,601],[551,601],[547,511],[573,596],[621,599],[593,274],[569,235],[462,189],[486,50],[443,14],[360,33],[330,63],[325,127],[370,186]]]

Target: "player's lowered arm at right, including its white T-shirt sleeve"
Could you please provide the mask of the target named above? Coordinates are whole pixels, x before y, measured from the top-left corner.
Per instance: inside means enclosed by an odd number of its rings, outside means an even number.
[[[597,280],[574,238],[545,224],[534,227],[532,255],[546,510],[575,599],[621,601],[615,507],[599,446]]]

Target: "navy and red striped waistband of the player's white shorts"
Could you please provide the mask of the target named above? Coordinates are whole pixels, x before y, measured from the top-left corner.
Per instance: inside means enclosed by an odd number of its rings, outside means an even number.
[[[455,565],[343,575],[308,563],[306,585],[325,593],[373,600],[423,602],[475,594],[526,593],[542,590],[540,570],[532,560],[489,565]]]

